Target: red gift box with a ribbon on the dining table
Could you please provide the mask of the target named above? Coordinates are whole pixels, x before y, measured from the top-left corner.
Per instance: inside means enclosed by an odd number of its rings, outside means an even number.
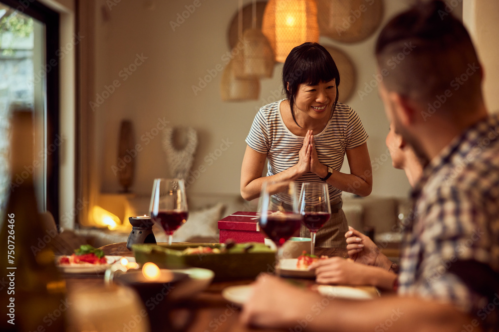
[[[238,211],[218,222],[220,243],[228,239],[236,243],[264,242],[265,234],[260,231],[256,212]]]

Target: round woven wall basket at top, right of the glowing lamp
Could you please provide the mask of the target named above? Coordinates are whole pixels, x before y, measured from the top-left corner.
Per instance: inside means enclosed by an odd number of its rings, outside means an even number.
[[[383,0],[316,0],[322,36],[355,43],[376,31],[383,18]]]

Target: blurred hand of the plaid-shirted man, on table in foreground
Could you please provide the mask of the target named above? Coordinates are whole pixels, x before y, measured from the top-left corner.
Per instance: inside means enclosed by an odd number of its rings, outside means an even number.
[[[285,328],[310,311],[310,303],[320,301],[317,293],[305,291],[283,279],[261,274],[253,283],[250,299],[243,307],[244,324]]]

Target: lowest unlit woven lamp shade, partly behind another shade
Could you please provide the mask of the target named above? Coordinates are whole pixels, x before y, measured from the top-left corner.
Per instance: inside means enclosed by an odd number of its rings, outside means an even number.
[[[255,78],[237,78],[234,73],[234,60],[225,67],[220,83],[220,95],[224,102],[257,100],[260,81]]]

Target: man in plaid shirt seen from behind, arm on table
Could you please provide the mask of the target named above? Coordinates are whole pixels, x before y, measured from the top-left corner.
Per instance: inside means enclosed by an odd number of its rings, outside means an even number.
[[[263,276],[243,322],[290,331],[499,331],[499,116],[486,109],[471,38],[446,9],[420,2],[376,44],[387,117],[428,161],[404,222],[397,296],[326,303]],[[364,247],[356,258],[388,269],[373,252]]]

